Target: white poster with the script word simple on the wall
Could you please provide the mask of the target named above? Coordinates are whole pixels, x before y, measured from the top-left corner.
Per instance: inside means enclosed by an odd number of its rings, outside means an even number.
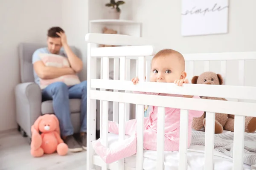
[[[228,32],[228,0],[182,0],[182,36]]]

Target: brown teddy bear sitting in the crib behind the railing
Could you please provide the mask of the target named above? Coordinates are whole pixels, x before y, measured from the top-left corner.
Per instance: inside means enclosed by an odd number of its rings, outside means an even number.
[[[223,78],[221,74],[216,74],[211,71],[202,73],[200,76],[194,76],[192,78],[193,84],[206,84],[206,85],[222,85]],[[214,100],[226,100],[224,98],[217,97],[201,97],[201,99],[214,99]],[[227,100],[226,100],[227,101]],[[215,113],[215,133],[222,133],[223,130],[234,132],[234,115]],[[193,118],[192,128],[200,130],[205,127],[205,112],[201,117]],[[256,131],[256,117],[245,117],[244,131],[253,133]]]

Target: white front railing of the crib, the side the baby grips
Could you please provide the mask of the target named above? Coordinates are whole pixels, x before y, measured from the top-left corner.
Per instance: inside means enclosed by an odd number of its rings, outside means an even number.
[[[98,82],[96,82],[98,81]],[[176,87],[176,85],[164,85],[164,83],[139,83],[137,87],[133,87],[131,82],[122,81],[119,84],[114,80],[92,80],[92,87],[105,87],[104,84],[108,84],[109,87],[114,89],[120,89],[124,85],[125,89],[129,91],[154,91],[157,93],[175,93],[180,91],[179,94],[192,94],[186,92],[187,90],[196,89],[196,93],[198,95],[206,95],[208,92],[201,91],[201,88],[205,88],[204,90],[211,90],[212,95],[209,96],[219,96],[220,91],[230,91],[228,96],[236,97],[236,92],[241,92],[241,99],[256,99],[255,97],[249,96],[250,94],[246,94],[246,92],[251,91],[255,94],[255,87],[233,87],[233,90],[229,89],[231,87],[225,86],[223,89],[218,89],[216,86],[207,89],[207,85],[184,85],[184,88]],[[167,87],[168,86],[168,87]],[[213,86],[213,85],[209,85]],[[145,88],[147,87],[147,88]],[[171,91],[168,90],[152,90],[152,88],[171,88]],[[123,89],[123,88],[121,88]],[[183,90],[184,89],[184,90]],[[213,94],[215,93],[215,94]],[[231,93],[235,94],[232,95]],[[238,95],[238,96],[239,96]],[[249,96],[249,97],[248,97]],[[143,165],[143,154],[140,153],[143,150],[143,111],[139,111],[140,105],[156,105],[159,106],[159,116],[158,116],[158,130],[157,135],[157,170],[163,167],[163,126],[164,126],[164,109],[165,107],[173,107],[180,108],[180,170],[186,169],[186,151],[187,151],[187,135],[188,135],[188,111],[187,110],[202,110],[207,112],[206,117],[206,136],[205,136],[205,168],[207,170],[213,169],[213,144],[214,144],[214,122],[215,122],[215,113],[228,113],[234,114],[235,117],[235,134],[234,134],[234,157],[233,164],[234,170],[241,170],[243,166],[243,146],[244,146],[244,116],[255,116],[256,104],[254,103],[245,103],[245,102],[230,102],[230,101],[219,101],[219,100],[207,100],[207,99],[188,99],[188,98],[177,98],[177,97],[166,97],[166,96],[150,96],[150,95],[142,95],[142,94],[130,94],[130,93],[118,93],[118,92],[108,92],[108,91],[91,91],[91,97],[93,99],[114,101],[114,102],[128,102],[138,104],[138,116],[137,116],[137,169],[141,170]],[[184,105],[186,103],[186,105]],[[244,109],[246,108],[246,112]],[[141,113],[141,114],[140,114]],[[120,114],[123,114],[120,113]],[[120,127],[123,127],[123,122],[119,122]],[[105,136],[104,136],[105,137]],[[163,169],[163,168],[162,168]]]

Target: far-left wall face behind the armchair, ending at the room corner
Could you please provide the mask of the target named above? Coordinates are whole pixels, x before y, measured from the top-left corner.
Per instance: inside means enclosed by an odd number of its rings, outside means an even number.
[[[0,131],[16,128],[14,88],[20,82],[17,45],[46,42],[47,29],[61,26],[61,0],[0,0]],[[50,12],[47,12],[50,11]]]

